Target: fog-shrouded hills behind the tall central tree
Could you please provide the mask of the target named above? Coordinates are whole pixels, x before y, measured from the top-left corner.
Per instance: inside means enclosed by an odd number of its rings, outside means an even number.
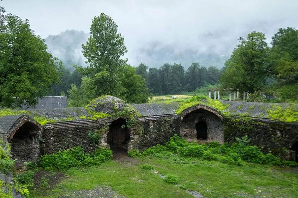
[[[58,35],[49,35],[45,40],[48,45],[48,51],[53,56],[59,58],[66,68],[73,71],[73,64],[86,65],[81,44],[86,43],[88,37],[89,34],[83,31],[66,30]],[[149,67],[156,68],[159,68],[164,63],[172,64],[174,62],[183,65],[186,69],[193,62],[198,62],[206,67],[217,66],[221,68],[228,57],[229,54],[227,55],[227,53],[215,53],[212,46],[207,51],[200,51],[187,47],[181,49],[178,45],[152,42],[150,45],[139,49],[137,54],[134,54],[133,62],[144,62]],[[128,63],[130,64],[131,59],[131,57],[128,57]]]

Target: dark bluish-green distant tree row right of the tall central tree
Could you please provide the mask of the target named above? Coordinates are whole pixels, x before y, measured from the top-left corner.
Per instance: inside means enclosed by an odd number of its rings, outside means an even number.
[[[159,69],[148,68],[141,63],[136,73],[146,80],[150,93],[154,95],[179,94],[195,91],[197,87],[218,84],[223,69],[204,67],[193,63],[186,71],[181,64],[164,64]]]

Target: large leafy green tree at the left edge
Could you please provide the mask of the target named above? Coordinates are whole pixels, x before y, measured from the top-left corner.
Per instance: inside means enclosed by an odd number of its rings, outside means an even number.
[[[28,20],[1,15],[0,106],[35,105],[38,97],[51,91],[59,80],[58,63],[46,49]]]

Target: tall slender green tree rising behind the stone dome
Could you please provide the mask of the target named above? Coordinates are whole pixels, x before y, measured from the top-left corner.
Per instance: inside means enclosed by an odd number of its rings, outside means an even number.
[[[127,59],[121,59],[127,49],[124,38],[111,17],[101,13],[95,16],[90,27],[90,37],[83,47],[83,55],[89,65],[81,69],[83,75],[91,77],[95,94],[119,97],[123,88],[120,81],[121,67]]]

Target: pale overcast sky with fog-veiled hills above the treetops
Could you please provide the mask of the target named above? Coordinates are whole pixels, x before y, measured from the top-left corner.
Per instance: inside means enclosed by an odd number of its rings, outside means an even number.
[[[30,20],[46,39],[49,52],[66,67],[84,65],[81,44],[89,37],[94,15],[109,15],[125,38],[128,63],[193,62],[221,68],[238,37],[262,31],[268,42],[278,28],[297,27],[295,0],[250,1],[2,1],[7,12]]]

